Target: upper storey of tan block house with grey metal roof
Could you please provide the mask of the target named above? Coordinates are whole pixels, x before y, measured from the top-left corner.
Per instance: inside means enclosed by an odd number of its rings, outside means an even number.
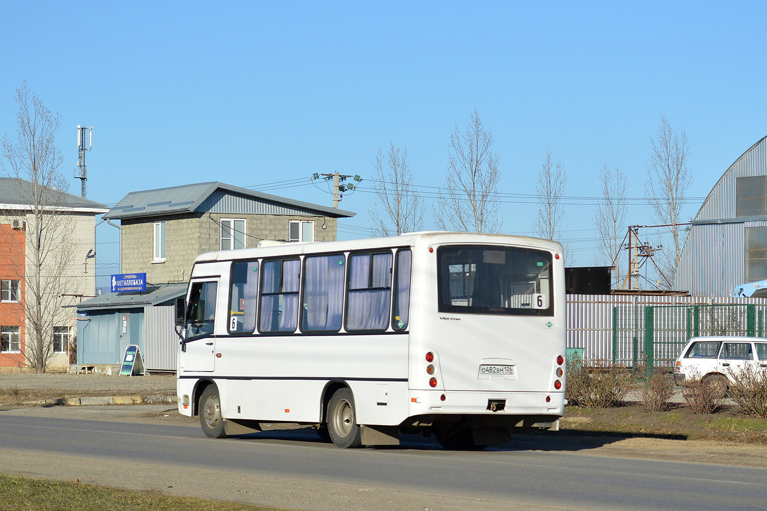
[[[212,182],[131,192],[104,218],[120,220],[121,271],[165,284],[188,281],[203,252],[252,248],[262,239],[332,241],[337,219],[351,216]]]

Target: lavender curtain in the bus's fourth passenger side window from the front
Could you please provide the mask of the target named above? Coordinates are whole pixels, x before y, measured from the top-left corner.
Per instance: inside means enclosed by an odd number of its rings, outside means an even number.
[[[391,252],[351,256],[347,330],[388,328],[391,263]]]

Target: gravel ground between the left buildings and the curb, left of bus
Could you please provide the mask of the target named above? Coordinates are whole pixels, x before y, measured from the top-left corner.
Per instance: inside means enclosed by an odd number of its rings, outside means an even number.
[[[55,399],[81,396],[175,396],[175,375],[0,374],[0,395]]]

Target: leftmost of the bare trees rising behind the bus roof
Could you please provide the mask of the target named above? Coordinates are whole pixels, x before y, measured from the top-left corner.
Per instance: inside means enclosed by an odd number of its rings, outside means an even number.
[[[400,151],[389,143],[386,158],[388,169],[384,170],[384,154],[378,149],[373,164],[373,191],[377,203],[370,209],[374,236],[394,236],[403,232],[423,229],[423,198],[413,188],[413,174],[407,160],[407,147]],[[380,211],[383,209],[383,212]]]

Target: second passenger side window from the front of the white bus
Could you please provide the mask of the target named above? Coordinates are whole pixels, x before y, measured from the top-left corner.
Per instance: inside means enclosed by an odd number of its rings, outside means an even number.
[[[264,261],[259,331],[295,331],[301,261]]]

